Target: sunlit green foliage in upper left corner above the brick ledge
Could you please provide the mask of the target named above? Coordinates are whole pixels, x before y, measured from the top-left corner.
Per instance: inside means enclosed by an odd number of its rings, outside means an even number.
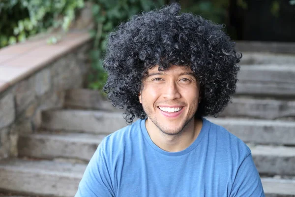
[[[23,42],[49,28],[68,31],[75,11],[83,6],[84,0],[0,1],[0,48]],[[55,41],[54,38],[52,40]]]

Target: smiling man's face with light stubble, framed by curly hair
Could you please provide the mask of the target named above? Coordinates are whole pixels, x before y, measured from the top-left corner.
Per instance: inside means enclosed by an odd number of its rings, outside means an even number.
[[[160,131],[174,135],[194,118],[199,103],[200,86],[189,66],[171,66],[158,71],[148,70],[143,79],[139,101],[149,123]]]

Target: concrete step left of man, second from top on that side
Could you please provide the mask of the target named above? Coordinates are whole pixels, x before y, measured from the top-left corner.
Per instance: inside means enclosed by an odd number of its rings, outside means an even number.
[[[111,133],[126,127],[122,113],[85,110],[52,110],[42,112],[43,129]]]

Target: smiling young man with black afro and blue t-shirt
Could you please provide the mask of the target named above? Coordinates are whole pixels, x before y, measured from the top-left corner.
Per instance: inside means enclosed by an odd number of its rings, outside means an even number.
[[[236,90],[234,43],[179,4],[109,36],[105,92],[128,127],[104,138],[76,197],[264,197],[250,149],[217,116]]]

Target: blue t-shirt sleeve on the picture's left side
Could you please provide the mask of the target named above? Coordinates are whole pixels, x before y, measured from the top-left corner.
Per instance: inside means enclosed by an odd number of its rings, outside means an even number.
[[[101,143],[86,167],[75,197],[115,196],[104,149]]]

